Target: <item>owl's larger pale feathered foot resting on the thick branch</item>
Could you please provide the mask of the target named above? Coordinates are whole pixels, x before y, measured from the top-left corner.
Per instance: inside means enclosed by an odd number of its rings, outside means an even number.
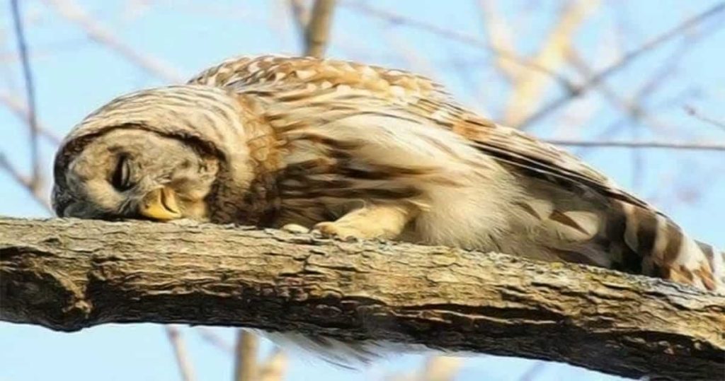
[[[415,217],[413,206],[380,205],[355,209],[334,222],[320,222],[313,233],[338,238],[396,238]]]

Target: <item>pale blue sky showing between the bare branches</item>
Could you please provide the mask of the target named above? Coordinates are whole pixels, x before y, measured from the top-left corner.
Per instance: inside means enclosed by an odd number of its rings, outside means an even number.
[[[28,43],[35,72],[38,119],[57,135],[97,106],[138,88],[167,81],[123,56],[90,41],[78,25],[59,17],[46,2],[22,2]],[[716,1],[642,0],[604,1],[579,30],[574,46],[595,68],[605,67],[644,41],[667,30],[684,17],[711,7]],[[297,54],[299,38],[289,18],[286,1],[78,1],[83,9],[112,30],[123,43],[154,56],[189,77],[229,56],[267,53]],[[140,5],[139,5],[140,4]],[[144,5],[146,4],[146,5]],[[368,1],[368,4],[415,20],[457,30],[484,39],[484,25],[477,1]],[[503,1],[502,13],[513,30],[521,54],[537,51],[560,1]],[[725,31],[717,28],[720,15],[696,30],[692,40],[675,38],[660,49],[647,52],[605,85],[622,99],[629,99],[655,76],[662,83],[641,104],[655,122],[636,122],[600,91],[591,91],[559,112],[541,120],[531,133],[543,138],[599,138],[659,141],[724,142],[725,129],[713,127],[684,112],[693,106],[716,120],[725,120]],[[22,99],[22,80],[16,56],[12,22],[7,4],[0,9],[0,91]],[[704,35],[698,38],[697,33]],[[344,59],[412,68],[446,84],[464,103],[501,116],[507,85],[494,69],[489,51],[451,41],[435,33],[369,17],[339,7],[332,30],[329,55]],[[612,47],[614,46],[614,47]],[[677,63],[668,67],[672,56]],[[578,78],[571,67],[559,70]],[[553,99],[561,89],[551,86],[545,96]],[[584,116],[582,116],[584,115]],[[579,120],[583,118],[584,120]],[[26,172],[28,135],[22,120],[0,105],[3,126],[0,152]],[[41,144],[46,175],[54,147]],[[692,235],[725,247],[721,226],[725,214],[723,151],[572,148],[588,162],[615,178],[671,215]],[[637,164],[639,163],[639,164]],[[49,178],[49,176],[46,176]],[[46,217],[45,210],[5,172],[0,172],[0,214]],[[233,340],[233,330],[215,328]],[[228,380],[231,357],[183,328],[199,380]],[[0,355],[0,380],[178,380],[173,353],[165,332],[157,325],[104,325],[76,333],[51,332],[40,327],[0,323],[5,353]],[[265,351],[270,346],[265,343]],[[295,357],[286,380],[370,380],[387,372],[418,367],[421,356],[381,361],[370,369],[350,372],[313,359]],[[515,380],[533,361],[479,356],[465,361],[457,380]],[[549,364],[536,380],[616,380],[584,369]]]

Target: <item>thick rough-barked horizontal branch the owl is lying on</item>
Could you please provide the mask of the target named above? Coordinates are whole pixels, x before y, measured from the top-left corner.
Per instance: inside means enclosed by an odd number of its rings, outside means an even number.
[[[247,227],[0,218],[0,319],[295,330],[725,377],[725,296],[576,264]]]

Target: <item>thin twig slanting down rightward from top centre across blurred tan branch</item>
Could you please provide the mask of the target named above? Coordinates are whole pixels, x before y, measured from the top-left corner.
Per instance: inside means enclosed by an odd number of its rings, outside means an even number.
[[[378,17],[380,19],[386,20],[387,22],[390,22],[394,25],[406,25],[410,28],[425,30],[428,33],[433,33],[434,35],[439,35],[444,38],[448,38],[453,41],[458,41],[460,43],[465,43],[469,46],[475,46],[480,49],[484,49],[486,51],[490,51],[493,54],[496,54],[497,56],[501,56],[502,58],[509,59],[512,62],[515,62],[516,64],[519,64],[523,67],[529,68],[530,70],[536,70],[539,72],[542,72],[546,75],[549,75],[552,79],[556,80],[560,85],[562,85],[564,88],[570,89],[573,88],[574,84],[571,83],[570,80],[563,77],[562,75],[558,74],[557,72],[552,72],[547,67],[542,67],[540,65],[537,65],[535,62],[532,62],[531,59],[527,59],[526,57],[518,56],[512,51],[506,51],[502,49],[498,49],[496,46],[493,46],[492,44],[481,40],[480,38],[477,38],[473,35],[469,35],[466,33],[460,33],[457,30],[442,28],[435,24],[430,24],[428,22],[423,22],[420,20],[414,20],[409,17],[405,17],[402,14],[397,14],[394,12],[389,12],[383,9],[378,9],[374,7],[370,7],[368,4],[365,4],[360,1],[349,1],[344,0],[340,1],[340,4],[344,7],[348,7],[351,9],[356,9],[359,12],[363,12],[365,14],[368,14],[372,17]]]

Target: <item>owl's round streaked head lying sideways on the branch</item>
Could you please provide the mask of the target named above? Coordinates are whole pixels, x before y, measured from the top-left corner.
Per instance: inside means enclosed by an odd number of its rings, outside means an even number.
[[[251,180],[238,108],[226,91],[201,85],[155,88],[109,102],[59,148],[55,212],[208,219],[220,179],[241,188]]]

